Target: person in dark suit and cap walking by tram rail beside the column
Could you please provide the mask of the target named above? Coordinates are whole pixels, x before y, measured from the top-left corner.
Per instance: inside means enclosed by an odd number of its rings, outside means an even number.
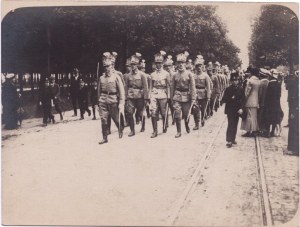
[[[235,137],[239,122],[239,113],[242,113],[242,105],[245,99],[244,90],[239,84],[239,74],[232,73],[230,78],[232,84],[226,88],[221,104],[226,103],[225,114],[227,114],[228,127],[226,132],[227,147],[236,144]]]

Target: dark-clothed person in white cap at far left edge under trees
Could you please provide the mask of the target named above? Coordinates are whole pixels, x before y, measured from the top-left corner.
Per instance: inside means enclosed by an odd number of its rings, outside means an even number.
[[[3,123],[5,129],[11,130],[18,127],[18,113],[20,100],[15,86],[15,75],[9,73],[2,85]]]

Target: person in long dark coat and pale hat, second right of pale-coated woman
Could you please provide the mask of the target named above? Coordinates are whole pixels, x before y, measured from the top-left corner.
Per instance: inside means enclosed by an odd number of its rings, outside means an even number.
[[[277,80],[277,74],[272,74],[265,98],[265,114],[267,124],[267,137],[274,136],[277,124],[280,124],[283,118],[283,111],[280,105],[281,85]],[[270,126],[272,130],[270,134]]]

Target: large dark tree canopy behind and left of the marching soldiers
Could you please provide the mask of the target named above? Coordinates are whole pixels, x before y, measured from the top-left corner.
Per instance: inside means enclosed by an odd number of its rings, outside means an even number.
[[[123,70],[133,53],[150,63],[161,49],[173,57],[201,53],[235,68],[239,49],[227,32],[216,7],[208,5],[20,8],[2,21],[2,72],[49,75],[78,67],[95,74],[105,51],[119,53],[117,68]]]

